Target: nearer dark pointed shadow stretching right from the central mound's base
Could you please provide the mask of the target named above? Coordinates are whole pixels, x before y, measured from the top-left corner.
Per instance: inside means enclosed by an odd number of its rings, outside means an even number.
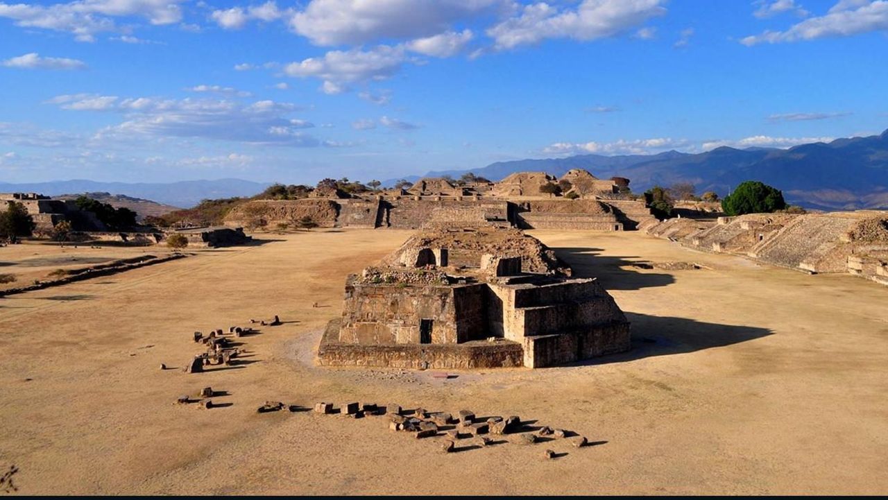
[[[632,323],[630,351],[572,364],[597,365],[640,360],[652,356],[694,353],[773,335],[771,329],[723,325],[671,316],[626,313],[626,318]]]

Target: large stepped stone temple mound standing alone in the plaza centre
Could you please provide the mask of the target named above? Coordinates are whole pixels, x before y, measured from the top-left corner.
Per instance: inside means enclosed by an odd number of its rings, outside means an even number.
[[[428,230],[345,283],[318,363],[412,369],[543,368],[630,347],[594,278],[514,229]]]

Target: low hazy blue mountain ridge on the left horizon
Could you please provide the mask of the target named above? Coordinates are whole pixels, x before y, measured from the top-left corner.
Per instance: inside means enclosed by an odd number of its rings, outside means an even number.
[[[270,183],[242,179],[183,180],[169,183],[97,182],[94,180],[55,180],[28,184],[0,182],[0,193],[27,192],[51,196],[70,193],[125,194],[153,200],[174,207],[193,207],[204,199],[252,196],[262,192]]]

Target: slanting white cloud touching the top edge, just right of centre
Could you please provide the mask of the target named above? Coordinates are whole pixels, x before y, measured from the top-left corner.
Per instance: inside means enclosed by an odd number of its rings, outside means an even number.
[[[535,44],[546,38],[589,41],[615,36],[666,12],[662,0],[583,0],[575,9],[526,5],[518,16],[487,30],[497,49]]]

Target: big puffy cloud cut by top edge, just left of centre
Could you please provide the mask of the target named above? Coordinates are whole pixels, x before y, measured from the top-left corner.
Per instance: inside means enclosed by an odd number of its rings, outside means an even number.
[[[316,45],[413,39],[448,30],[454,22],[506,8],[507,0],[312,0],[289,20]]]

